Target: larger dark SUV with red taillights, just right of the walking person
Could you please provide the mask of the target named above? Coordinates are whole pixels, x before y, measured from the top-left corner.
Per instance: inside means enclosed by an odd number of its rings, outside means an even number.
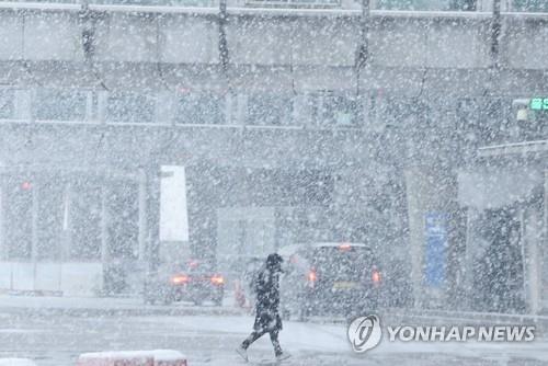
[[[381,274],[369,247],[311,243],[287,247],[279,253],[285,258],[285,317],[350,317],[377,308]]]

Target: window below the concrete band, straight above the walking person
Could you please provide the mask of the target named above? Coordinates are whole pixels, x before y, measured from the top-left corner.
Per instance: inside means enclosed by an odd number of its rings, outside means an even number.
[[[282,126],[293,123],[290,95],[259,93],[248,96],[247,125]]]

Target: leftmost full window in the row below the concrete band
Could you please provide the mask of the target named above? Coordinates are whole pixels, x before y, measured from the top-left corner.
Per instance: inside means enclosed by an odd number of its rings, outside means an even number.
[[[39,89],[34,101],[38,121],[84,121],[87,91]]]

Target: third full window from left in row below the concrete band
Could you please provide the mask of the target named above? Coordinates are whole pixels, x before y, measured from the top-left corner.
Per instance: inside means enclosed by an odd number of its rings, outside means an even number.
[[[222,124],[225,98],[213,93],[184,93],[176,98],[175,123]]]

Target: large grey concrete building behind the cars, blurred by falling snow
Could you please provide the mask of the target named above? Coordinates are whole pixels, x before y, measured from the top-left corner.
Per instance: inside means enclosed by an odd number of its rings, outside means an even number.
[[[137,291],[105,278],[357,240],[403,302],[461,307],[459,172],[547,92],[547,14],[516,3],[0,3],[0,287]],[[162,165],[189,241],[160,240]]]

